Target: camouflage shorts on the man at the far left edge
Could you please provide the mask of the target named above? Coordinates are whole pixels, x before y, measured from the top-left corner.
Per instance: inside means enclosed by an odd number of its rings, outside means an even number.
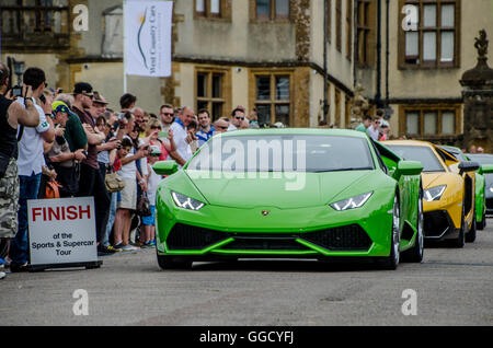
[[[5,175],[0,179],[0,237],[18,233],[19,176],[15,159],[10,159]]]

